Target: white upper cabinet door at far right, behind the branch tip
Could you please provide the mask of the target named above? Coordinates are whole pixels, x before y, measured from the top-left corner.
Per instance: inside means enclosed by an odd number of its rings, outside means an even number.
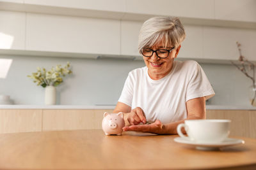
[[[237,60],[239,52],[236,41],[241,43],[241,52],[247,59],[255,59],[256,31],[225,27],[204,27],[203,49],[205,59]]]

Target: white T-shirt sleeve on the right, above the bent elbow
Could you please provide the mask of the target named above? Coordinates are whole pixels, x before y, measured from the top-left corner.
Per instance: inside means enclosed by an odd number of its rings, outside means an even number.
[[[207,100],[214,96],[214,90],[202,67],[195,62],[195,67],[193,68],[194,70],[191,71],[191,79],[186,92],[186,101],[197,97],[205,97],[205,100]]]

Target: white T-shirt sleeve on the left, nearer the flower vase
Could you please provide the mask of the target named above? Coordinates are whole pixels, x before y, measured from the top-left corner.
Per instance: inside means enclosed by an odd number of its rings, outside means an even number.
[[[122,90],[120,98],[118,99],[118,102],[122,102],[124,104],[127,104],[128,106],[132,106],[133,87],[134,84],[132,81],[132,74],[129,73],[125,80],[124,88]]]

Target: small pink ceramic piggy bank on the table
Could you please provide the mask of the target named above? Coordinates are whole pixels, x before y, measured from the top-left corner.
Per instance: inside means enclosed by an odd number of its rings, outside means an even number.
[[[102,120],[102,129],[106,135],[117,134],[121,135],[124,127],[123,113],[104,113],[104,118]]]

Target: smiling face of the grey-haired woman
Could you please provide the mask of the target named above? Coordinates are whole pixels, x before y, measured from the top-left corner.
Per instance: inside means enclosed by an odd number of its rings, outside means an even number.
[[[150,47],[150,49],[152,50],[170,50],[171,48],[173,48],[173,46],[168,46],[167,48],[164,48],[162,46],[162,43],[158,43],[157,45]],[[170,73],[173,66],[173,60],[177,57],[179,50],[180,46],[178,46],[177,48],[173,48],[173,50],[170,51],[168,57],[166,57],[165,59],[157,57],[156,52],[154,52],[151,57],[143,56],[143,60],[148,67],[148,75],[150,76],[150,78],[152,78],[153,80],[159,80],[166,76],[168,73]]]

